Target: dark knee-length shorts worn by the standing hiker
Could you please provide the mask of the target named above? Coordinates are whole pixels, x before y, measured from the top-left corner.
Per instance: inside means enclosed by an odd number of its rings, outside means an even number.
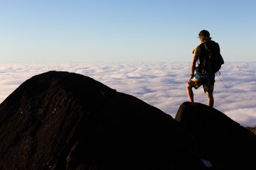
[[[208,77],[208,75],[196,74],[188,81],[189,86],[192,86],[195,89],[198,89],[201,85],[203,85],[203,90],[205,91],[205,93],[207,91],[209,94],[213,94],[214,83],[215,75],[211,75]]]

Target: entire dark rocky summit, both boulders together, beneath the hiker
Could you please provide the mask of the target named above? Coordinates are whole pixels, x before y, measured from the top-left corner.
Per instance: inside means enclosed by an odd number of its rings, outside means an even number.
[[[174,120],[75,73],[39,74],[0,105],[0,170],[246,168],[255,144],[214,108],[183,103]]]

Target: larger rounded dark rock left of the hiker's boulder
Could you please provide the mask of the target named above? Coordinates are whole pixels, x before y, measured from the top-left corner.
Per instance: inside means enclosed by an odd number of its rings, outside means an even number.
[[[202,166],[170,115],[80,74],[32,77],[1,103],[0,114],[0,169]]]

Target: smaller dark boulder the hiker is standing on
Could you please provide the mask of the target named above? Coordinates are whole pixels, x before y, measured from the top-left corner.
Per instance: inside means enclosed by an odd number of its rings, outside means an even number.
[[[183,103],[176,118],[214,169],[256,169],[256,135],[215,108]]]

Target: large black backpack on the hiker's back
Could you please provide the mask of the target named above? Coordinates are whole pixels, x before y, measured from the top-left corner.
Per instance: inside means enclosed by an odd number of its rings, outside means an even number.
[[[210,75],[219,72],[221,65],[224,64],[224,60],[220,55],[220,46],[218,43],[210,41],[199,46],[204,49],[203,54],[199,56],[200,63],[198,67],[200,67],[201,71]]]

